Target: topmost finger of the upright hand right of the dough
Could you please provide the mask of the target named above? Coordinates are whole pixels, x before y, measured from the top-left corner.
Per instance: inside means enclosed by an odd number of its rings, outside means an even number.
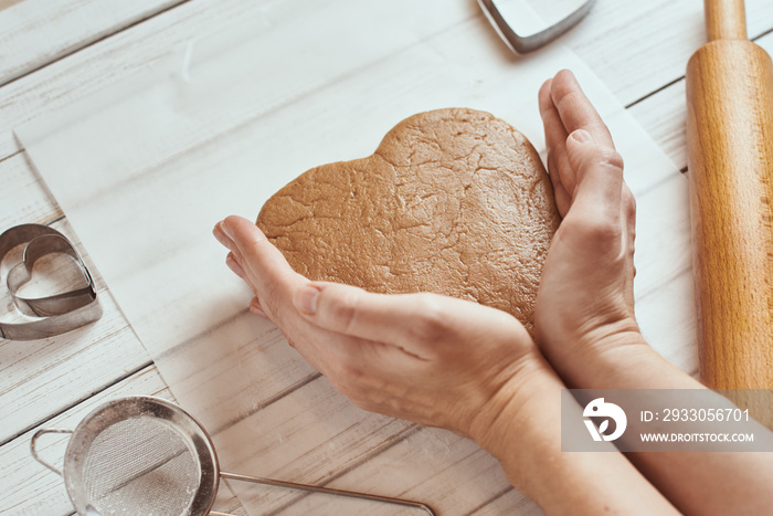
[[[610,129],[587,99],[574,74],[562,70],[551,82],[551,98],[566,133],[584,129],[600,145],[614,148]]]

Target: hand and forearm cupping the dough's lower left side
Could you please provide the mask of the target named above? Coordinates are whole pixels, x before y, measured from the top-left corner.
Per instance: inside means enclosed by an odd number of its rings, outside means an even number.
[[[214,234],[255,293],[252,312],[356,404],[474,439],[549,514],[670,513],[620,453],[561,452],[563,385],[510,315],[434,294],[310,282],[239,217]]]

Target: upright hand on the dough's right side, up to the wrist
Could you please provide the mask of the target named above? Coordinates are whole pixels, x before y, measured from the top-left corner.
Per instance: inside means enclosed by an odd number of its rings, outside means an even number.
[[[584,361],[622,344],[644,344],[634,315],[636,208],[623,159],[574,75],[542,85],[548,169],[563,221],[542,271],[537,341],[570,383],[590,387]]]

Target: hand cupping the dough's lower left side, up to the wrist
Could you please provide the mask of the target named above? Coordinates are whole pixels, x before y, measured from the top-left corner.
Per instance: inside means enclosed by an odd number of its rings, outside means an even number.
[[[220,222],[214,234],[256,296],[251,309],[366,410],[485,445],[504,407],[536,373],[550,370],[523,326],[504,312],[435,294],[310,282],[239,217]]]

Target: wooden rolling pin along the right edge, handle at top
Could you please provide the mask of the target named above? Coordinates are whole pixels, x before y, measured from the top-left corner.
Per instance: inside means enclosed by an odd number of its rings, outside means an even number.
[[[773,64],[743,0],[705,0],[687,65],[687,143],[701,381],[773,388]]]

